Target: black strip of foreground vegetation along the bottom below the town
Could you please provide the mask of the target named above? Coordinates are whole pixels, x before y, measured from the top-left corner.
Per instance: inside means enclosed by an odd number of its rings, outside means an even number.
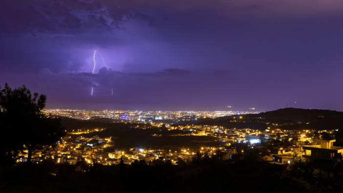
[[[162,160],[116,166],[20,164],[1,167],[0,176],[1,193],[335,193],[343,188],[340,164],[322,168],[298,161],[282,166],[260,161],[253,152],[226,161],[180,160],[178,165]]]

